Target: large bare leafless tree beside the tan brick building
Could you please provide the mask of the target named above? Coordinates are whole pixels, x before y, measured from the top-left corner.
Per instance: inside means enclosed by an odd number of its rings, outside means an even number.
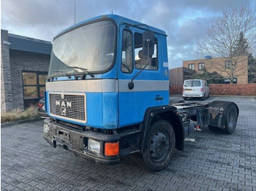
[[[245,7],[224,9],[222,15],[214,17],[211,26],[206,29],[206,37],[197,42],[197,55],[200,58],[206,55],[211,55],[212,58],[225,58],[226,63],[214,63],[211,59],[206,61],[211,68],[227,74],[230,83],[233,83],[235,77],[248,73],[248,55],[239,55],[256,50],[255,27],[255,12],[252,10]],[[246,66],[239,66],[238,63],[246,63]]]

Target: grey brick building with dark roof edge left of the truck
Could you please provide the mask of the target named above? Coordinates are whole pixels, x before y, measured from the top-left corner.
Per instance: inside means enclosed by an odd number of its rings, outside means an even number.
[[[1,29],[1,112],[23,109],[43,97],[51,42]]]

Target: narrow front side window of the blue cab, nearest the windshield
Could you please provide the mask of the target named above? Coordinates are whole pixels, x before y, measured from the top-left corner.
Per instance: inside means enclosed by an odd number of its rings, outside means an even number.
[[[121,46],[121,71],[132,73],[132,32],[124,30]]]

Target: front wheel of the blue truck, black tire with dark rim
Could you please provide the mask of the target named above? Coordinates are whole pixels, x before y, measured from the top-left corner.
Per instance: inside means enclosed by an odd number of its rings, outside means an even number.
[[[175,149],[173,126],[166,120],[151,125],[145,138],[143,154],[135,155],[138,165],[148,171],[161,171],[170,163]]]

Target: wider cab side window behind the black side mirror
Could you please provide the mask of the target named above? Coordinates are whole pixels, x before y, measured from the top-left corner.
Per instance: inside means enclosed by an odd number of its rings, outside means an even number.
[[[143,55],[143,42],[142,42],[142,34],[135,33],[135,68],[143,69],[148,63],[148,57]],[[145,69],[148,70],[157,70],[158,69],[158,58],[157,58],[157,39],[154,39],[154,55],[152,58],[149,58],[148,66]]]

